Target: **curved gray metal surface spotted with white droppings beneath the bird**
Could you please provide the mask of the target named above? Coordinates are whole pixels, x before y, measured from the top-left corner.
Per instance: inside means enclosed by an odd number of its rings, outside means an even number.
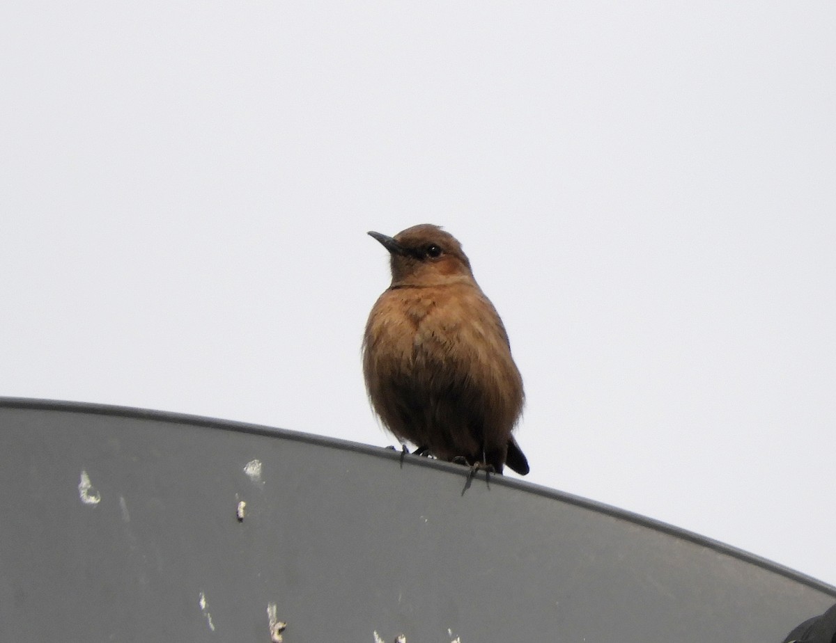
[[[567,494],[496,476],[461,494],[464,471],[240,423],[0,398],[0,640],[269,641],[272,619],[286,643],[764,643],[836,601]]]

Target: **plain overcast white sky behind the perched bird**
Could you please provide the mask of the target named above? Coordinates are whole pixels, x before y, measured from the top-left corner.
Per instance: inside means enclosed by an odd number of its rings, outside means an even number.
[[[4,3],[0,395],[386,445],[444,225],[533,483],[836,584],[832,2]]]

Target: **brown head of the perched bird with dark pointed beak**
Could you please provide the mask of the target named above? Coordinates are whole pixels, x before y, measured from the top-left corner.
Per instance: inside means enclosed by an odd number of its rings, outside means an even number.
[[[370,232],[389,251],[392,286],[442,286],[473,281],[470,261],[456,237],[429,223],[394,237]]]

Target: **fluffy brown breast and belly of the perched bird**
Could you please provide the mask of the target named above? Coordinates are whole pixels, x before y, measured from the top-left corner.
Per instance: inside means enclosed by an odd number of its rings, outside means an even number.
[[[505,328],[475,284],[385,291],[366,327],[364,376],[387,427],[440,458],[504,444],[523,404]]]

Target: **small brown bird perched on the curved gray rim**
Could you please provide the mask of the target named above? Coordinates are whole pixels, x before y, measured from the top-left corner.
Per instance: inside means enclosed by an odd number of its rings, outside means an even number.
[[[496,309],[453,235],[415,225],[389,251],[392,283],[372,307],[363,374],[375,412],[401,441],[441,460],[528,473],[511,435],[523,378]]]

